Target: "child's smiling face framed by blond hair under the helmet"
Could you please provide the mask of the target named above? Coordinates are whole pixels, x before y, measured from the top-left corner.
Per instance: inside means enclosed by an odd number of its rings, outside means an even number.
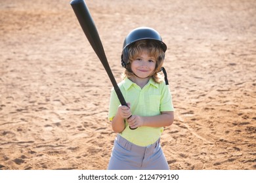
[[[156,59],[149,56],[145,49],[131,62],[131,70],[140,78],[151,76],[154,73],[155,68]]]

